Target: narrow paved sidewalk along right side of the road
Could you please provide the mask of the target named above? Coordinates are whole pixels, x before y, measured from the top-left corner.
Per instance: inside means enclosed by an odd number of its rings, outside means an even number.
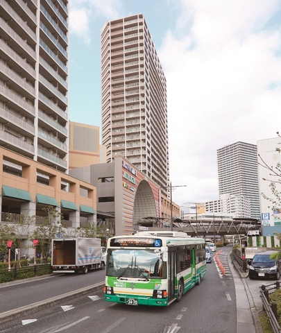
[[[228,261],[235,281],[237,333],[263,333],[253,296],[245,280],[248,278],[248,271],[243,271],[237,261],[232,259],[231,253]]]

